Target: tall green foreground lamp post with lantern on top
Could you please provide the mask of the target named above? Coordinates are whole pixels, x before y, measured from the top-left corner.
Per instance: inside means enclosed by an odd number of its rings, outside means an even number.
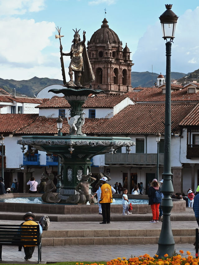
[[[171,210],[173,203],[171,194],[174,188],[171,180],[171,43],[174,39],[175,26],[178,16],[171,10],[172,5],[165,5],[166,11],[160,16],[163,38],[166,40],[166,92],[165,92],[165,123],[164,123],[164,171],[161,192],[164,194],[161,208],[163,210],[163,222],[158,240],[159,257],[164,254],[174,254],[174,237],[171,230]]]

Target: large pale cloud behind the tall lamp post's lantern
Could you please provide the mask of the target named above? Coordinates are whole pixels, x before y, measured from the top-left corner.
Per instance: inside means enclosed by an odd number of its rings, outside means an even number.
[[[171,48],[171,71],[188,73],[199,68],[199,7],[187,10],[179,16],[176,25],[175,39]],[[136,52],[132,55],[135,65],[132,71],[153,71],[165,74],[166,57],[165,41],[161,38],[161,25],[148,26],[145,34],[139,39]]]

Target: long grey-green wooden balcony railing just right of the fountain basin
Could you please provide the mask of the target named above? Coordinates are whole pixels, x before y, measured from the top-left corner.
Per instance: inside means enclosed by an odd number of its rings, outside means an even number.
[[[105,154],[105,164],[156,165],[157,154],[116,153]],[[159,165],[164,164],[164,154],[159,154]]]

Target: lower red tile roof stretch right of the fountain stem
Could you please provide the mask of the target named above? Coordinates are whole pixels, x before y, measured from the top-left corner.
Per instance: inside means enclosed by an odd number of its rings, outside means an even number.
[[[172,132],[178,132],[180,121],[194,108],[194,105],[171,106]],[[87,134],[164,134],[164,105],[130,105],[110,119],[90,119],[83,127]],[[96,121],[95,121],[96,120]],[[92,130],[91,130],[92,128]]]

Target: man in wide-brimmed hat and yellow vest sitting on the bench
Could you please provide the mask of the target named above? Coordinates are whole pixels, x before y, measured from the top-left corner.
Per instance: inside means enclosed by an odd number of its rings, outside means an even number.
[[[33,225],[33,226],[38,225],[39,226],[39,233],[41,235],[42,234],[42,227],[38,223],[33,221],[35,219],[35,217],[36,216],[32,212],[26,212],[26,214],[23,216],[23,220],[25,222],[22,223],[21,225],[28,225],[28,226],[30,226],[30,225]],[[24,245],[23,248],[24,248],[24,253],[25,253],[24,259],[28,260],[28,259],[32,258],[32,254],[33,254],[33,252],[35,250],[35,246]]]

